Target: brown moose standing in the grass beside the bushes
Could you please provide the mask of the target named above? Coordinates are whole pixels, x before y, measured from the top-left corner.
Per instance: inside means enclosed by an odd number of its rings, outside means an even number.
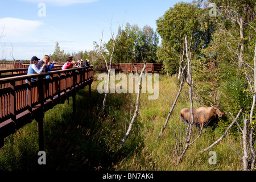
[[[220,102],[218,102],[217,105],[213,105],[212,103],[210,103],[210,105],[211,107],[201,106],[197,109],[193,109],[193,121],[195,125],[203,125],[204,127],[211,126],[215,121],[217,121],[218,117],[222,118],[224,116],[224,113],[218,109]],[[181,109],[180,117],[184,122],[191,122],[191,109],[189,107]]]

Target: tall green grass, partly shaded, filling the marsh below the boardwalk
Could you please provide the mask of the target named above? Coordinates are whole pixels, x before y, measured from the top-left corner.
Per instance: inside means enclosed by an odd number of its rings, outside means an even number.
[[[97,75],[96,75],[97,76]],[[45,113],[44,143],[46,169],[49,170],[241,170],[237,155],[228,142],[237,150],[240,143],[231,135],[211,150],[217,153],[217,164],[210,165],[209,151],[199,151],[221,137],[220,129],[204,129],[203,135],[189,147],[184,160],[176,166],[176,129],[185,127],[180,120],[180,109],[190,105],[188,87],[184,87],[170,121],[162,137],[157,140],[177,90],[174,77],[159,77],[159,98],[148,100],[141,95],[139,115],[125,145],[115,155],[123,135],[134,114],[136,94],[109,94],[106,111],[100,117],[103,94],[97,92],[97,81],[92,85],[89,98],[88,87],[76,96],[77,113],[72,114],[72,98],[69,104],[60,104]],[[196,100],[195,107],[198,106]],[[198,134],[194,130],[194,136]],[[211,151],[210,150],[210,151]],[[36,170],[38,165],[38,130],[36,121],[24,126],[5,139],[0,149],[0,170]]]

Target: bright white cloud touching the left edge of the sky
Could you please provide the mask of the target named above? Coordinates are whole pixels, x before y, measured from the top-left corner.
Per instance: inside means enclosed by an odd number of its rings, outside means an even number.
[[[38,20],[24,20],[18,18],[1,18],[0,30],[3,30],[5,36],[19,37],[24,34],[35,31],[43,22]]]

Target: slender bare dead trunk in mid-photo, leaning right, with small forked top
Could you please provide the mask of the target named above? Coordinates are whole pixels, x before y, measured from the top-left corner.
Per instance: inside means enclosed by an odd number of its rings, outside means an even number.
[[[144,60],[143,60],[144,61]],[[141,75],[139,75],[139,79],[138,79],[138,93],[137,93],[137,100],[136,100],[136,106],[135,106],[135,111],[134,111],[134,115],[133,115],[133,118],[131,119],[131,122],[130,122],[130,125],[129,125],[129,128],[125,134],[125,136],[123,137],[122,139],[122,142],[121,142],[121,145],[120,145],[120,148],[125,144],[126,142],[126,139],[129,137],[129,134],[130,134],[130,131],[134,125],[134,121],[135,119],[137,118],[138,116],[138,111],[139,111],[139,98],[141,97],[141,89],[142,89],[142,75],[146,69],[146,61],[144,61],[144,66],[142,68],[142,71],[141,71]],[[136,74],[137,74],[137,77],[138,77],[138,73],[137,73],[137,68],[136,68]],[[136,79],[135,79],[136,80]]]

